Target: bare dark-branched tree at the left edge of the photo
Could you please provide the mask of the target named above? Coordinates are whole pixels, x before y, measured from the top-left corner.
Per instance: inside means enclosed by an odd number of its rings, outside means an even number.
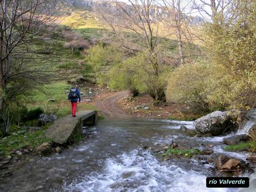
[[[47,71],[35,63],[29,45],[46,40],[56,26],[57,1],[0,1],[0,109],[7,85],[18,78],[36,82],[47,81]],[[26,57],[25,55],[28,55]]]

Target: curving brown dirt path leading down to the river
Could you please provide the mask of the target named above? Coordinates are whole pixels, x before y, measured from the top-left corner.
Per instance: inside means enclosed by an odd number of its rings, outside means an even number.
[[[96,100],[96,107],[107,117],[129,117],[117,104],[117,101],[129,95],[129,91],[117,92],[114,95],[101,97]]]

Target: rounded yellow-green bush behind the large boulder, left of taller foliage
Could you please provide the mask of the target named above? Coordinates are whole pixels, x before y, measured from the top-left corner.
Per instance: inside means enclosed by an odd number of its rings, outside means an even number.
[[[221,108],[219,104],[211,104],[208,99],[215,90],[215,71],[218,70],[203,62],[178,67],[169,77],[168,101],[186,104],[195,113]]]

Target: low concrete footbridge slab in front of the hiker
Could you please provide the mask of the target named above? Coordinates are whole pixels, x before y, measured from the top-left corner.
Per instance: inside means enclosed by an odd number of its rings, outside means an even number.
[[[77,137],[83,135],[83,126],[96,124],[97,115],[97,111],[79,111],[76,113],[76,117],[67,115],[57,119],[46,130],[45,136],[60,145],[73,142]]]

